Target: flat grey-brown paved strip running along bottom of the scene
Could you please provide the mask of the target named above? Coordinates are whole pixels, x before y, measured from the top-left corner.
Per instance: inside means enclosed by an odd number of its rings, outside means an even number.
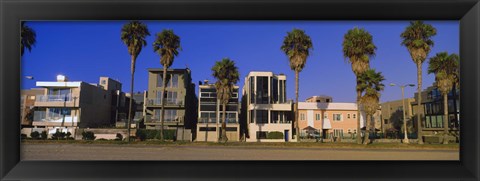
[[[22,160],[458,160],[458,151],[22,144]]]

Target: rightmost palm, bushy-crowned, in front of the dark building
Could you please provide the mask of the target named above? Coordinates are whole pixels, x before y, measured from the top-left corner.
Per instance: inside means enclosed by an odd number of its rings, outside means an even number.
[[[443,96],[443,144],[448,144],[448,93],[452,91],[454,84],[458,79],[458,65],[460,57],[456,54],[448,54],[447,52],[437,53],[430,58],[428,62],[428,73],[435,74],[435,84]]]

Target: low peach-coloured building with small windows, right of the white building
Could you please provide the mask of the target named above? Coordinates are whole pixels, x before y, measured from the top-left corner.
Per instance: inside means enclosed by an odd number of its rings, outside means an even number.
[[[357,104],[333,102],[300,102],[298,104],[300,137],[353,138],[357,130]],[[361,112],[360,127],[365,125]]]

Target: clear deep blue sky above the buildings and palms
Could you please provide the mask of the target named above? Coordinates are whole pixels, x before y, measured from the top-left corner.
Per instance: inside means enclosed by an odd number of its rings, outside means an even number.
[[[140,53],[135,73],[135,91],[147,89],[147,68],[161,68],[160,57],[152,44],[157,32],[173,29],[181,37],[182,51],[171,68],[192,70],[195,84],[213,80],[211,67],[215,61],[229,57],[236,61],[240,82],[250,71],[273,71],[287,75],[287,97],[295,97],[294,72],[280,50],[288,31],[300,28],[310,35],[313,51],[300,73],[299,100],[313,95],[330,95],[335,102],[355,102],[355,76],[342,53],[344,34],[351,28],[369,31],[377,46],[370,66],[385,76],[381,102],[401,98],[400,88],[388,84],[416,84],[416,66],[408,51],[400,45],[400,34],[408,21],[144,21],[152,36]],[[130,87],[130,56],[120,40],[126,21],[35,21],[27,24],[35,29],[37,43],[32,52],[22,57],[22,89],[35,87],[35,81],[55,81],[64,74],[72,81],[98,83],[100,76],[120,80],[123,91]],[[459,53],[458,21],[426,21],[437,28],[437,52]],[[423,88],[434,82],[423,66]],[[413,97],[416,88],[406,88],[405,96]]]

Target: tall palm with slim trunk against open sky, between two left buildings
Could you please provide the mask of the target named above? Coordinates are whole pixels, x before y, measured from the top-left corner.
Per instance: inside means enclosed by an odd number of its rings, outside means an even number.
[[[140,21],[131,21],[122,27],[121,39],[127,45],[128,53],[131,56],[131,82],[130,82],[130,102],[128,106],[128,133],[127,142],[130,142],[130,124],[132,122],[132,103],[133,103],[133,80],[135,74],[135,63],[142,48],[147,45],[145,38],[150,36],[147,25]]]

